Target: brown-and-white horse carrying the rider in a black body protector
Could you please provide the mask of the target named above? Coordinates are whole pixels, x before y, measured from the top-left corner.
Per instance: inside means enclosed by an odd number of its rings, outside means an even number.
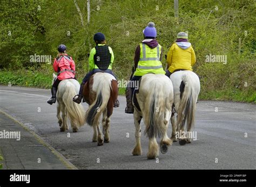
[[[83,98],[89,104],[89,109],[85,114],[85,121],[93,127],[92,141],[98,142],[98,146],[103,145],[102,132],[99,127],[99,120],[102,114],[104,142],[108,143],[110,141],[110,116],[117,96],[117,80],[109,73],[93,74],[84,85]]]

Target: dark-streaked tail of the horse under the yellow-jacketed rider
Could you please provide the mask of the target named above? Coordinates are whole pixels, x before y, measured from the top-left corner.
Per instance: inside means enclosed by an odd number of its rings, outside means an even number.
[[[187,121],[187,129],[190,129],[194,124],[196,95],[192,85],[191,77],[188,75],[188,73],[184,73],[181,77],[181,80],[180,104],[178,109],[177,122],[181,125],[181,128],[183,128]]]

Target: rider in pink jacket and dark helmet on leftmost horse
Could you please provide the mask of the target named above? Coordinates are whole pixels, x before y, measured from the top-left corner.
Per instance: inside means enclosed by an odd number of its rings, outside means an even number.
[[[75,78],[75,62],[72,57],[66,54],[66,46],[61,44],[58,47],[58,57],[53,62],[53,69],[58,73],[58,76],[52,84],[51,94],[52,97],[48,99],[47,103],[52,105],[56,102],[56,93],[60,81]]]

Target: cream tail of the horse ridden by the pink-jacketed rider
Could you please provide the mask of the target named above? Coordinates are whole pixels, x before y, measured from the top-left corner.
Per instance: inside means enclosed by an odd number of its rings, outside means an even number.
[[[72,98],[77,94],[75,86],[68,82],[65,85],[65,92],[63,94],[63,102],[66,106],[66,111],[70,117],[70,121],[76,124],[78,127],[83,126],[85,123],[84,119],[84,107],[82,104],[73,102]]]

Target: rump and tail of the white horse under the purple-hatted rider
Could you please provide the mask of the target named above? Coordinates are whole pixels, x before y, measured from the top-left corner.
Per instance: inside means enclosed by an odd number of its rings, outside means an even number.
[[[165,119],[165,111],[171,111],[173,102],[171,84],[170,79],[161,74],[147,74],[142,77],[137,99],[140,100],[143,120],[148,124],[145,133],[149,138],[162,136],[165,132],[162,128],[168,123]]]

